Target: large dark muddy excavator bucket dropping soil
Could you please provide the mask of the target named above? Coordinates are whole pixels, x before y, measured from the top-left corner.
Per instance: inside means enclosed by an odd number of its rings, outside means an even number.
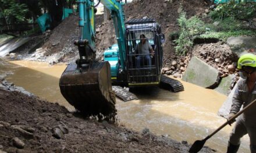
[[[67,65],[59,81],[65,99],[85,116],[116,115],[115,92],[111,85],[111,70],[107,61],[94,62],[86,68]]]

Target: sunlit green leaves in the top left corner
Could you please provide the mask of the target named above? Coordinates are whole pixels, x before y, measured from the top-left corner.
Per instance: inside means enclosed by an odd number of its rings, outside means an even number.
[[[17,3],[15,0],[0,0],[0,2],[0,17],[5,19],[5,24],[22,23],[26,20],[29,10],[25,4]]]

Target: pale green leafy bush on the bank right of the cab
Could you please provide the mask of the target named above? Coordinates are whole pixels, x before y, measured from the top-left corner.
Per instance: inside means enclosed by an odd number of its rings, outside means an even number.
[[[197,16],[186,19],[186,13],[181,13],[178,20],[180,26],[179,39],[175,40],[177,46],[175,47],[177,54],[186,54],[192,46],[191,39],[195,35],[205,32],[204,22]]]

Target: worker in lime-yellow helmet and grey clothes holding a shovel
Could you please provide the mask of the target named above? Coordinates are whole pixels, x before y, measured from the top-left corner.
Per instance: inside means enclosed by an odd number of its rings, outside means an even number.
[[[244,54],[239,58],[237,68],[240,70],[239,74],[242,79],[237,82],[228,121],[239,112],[242,105],[246,107],[256,99],[256,56],[250,53]],[[234,120],[229,123],[233,122]],[[227,153],[237,152],[240,139],[246,134],[250,137],[251,153],[256,153],[256,106],[251,107],[237,119],[232,133],[230,133]]]

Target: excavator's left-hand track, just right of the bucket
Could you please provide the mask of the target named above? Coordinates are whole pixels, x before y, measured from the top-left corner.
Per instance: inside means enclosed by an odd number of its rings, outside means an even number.
[[[112,89],[115,91],[116,97],[119,97],[119,99],[123,101],[138,99],[135,94],[130,93],[126,89],[123,89],[122,86],[112,86]]]

